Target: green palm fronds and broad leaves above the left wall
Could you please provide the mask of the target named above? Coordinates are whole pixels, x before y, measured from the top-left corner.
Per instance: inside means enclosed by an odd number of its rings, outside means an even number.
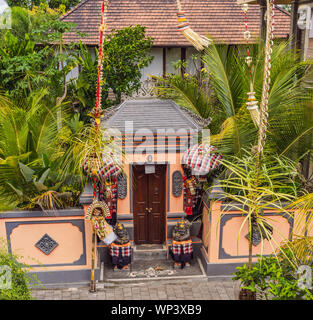
[[[70,173],[61,178],[59,163],[64,149],[58,143],[59,128],[66,128],[70,121],[69,128],[72,126],[75,130],[79,122],[77,118],[69,118],[64,105],[47,108],[43,103],[46,95],[47,90],[33,94],[23,108],[8,103],[0,109],[0,202],[3,209],[9,209],[10,204],[42,209],[62,207],[68,199],[72,201],[72,193],[66,192],[63,183],[79,184],[80,180]]]

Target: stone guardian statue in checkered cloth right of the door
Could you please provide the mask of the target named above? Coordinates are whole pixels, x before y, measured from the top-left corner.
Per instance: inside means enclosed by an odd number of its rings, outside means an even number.
[[[171,254],[174,260],[174,268],[190,267],[193,258],[192,240],[190,238],[191,223],[181,219],[173,230],[173,244]]]

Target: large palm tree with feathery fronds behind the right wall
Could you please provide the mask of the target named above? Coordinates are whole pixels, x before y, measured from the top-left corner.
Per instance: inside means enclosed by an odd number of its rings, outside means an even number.
[[[256,98],[261,100],[264,47],[253,46],[252,79]],[[193,81],[168,75],[159,80],[161,97],[171,97],[182,106],[202,117],[212,117],[211,143],[225,156],[242,157],[244,149],[256,144],[257,128],[246,109],[249,77],[240,48],[210,45],[202,56],[208,71],[212,95]],[[288,42],[274,45],[271,59],[271,88],[269,95],[269,124],[266,149],[292,159],[312,149],[312,92],[303,81],[312,70],[312,61],[299,62],[289,50]],[[213,98],[214,99],[214,98]]]

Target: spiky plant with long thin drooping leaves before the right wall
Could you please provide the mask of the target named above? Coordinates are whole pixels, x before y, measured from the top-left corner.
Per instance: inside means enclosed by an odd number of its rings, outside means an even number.
[[[264,155],[260,162],[258,155],[248,152],[245,152],[242,158],[224,159],[222,164],[225,171],[218,184],[224,190],[221,200],[231,202],[231,206],[243,216],[237,232],[237,248],[240,235],[244,227],[247,227],[250,234],[248,260],[251,267],[254,232],[259,233],[262,241],[261,254],[263,240],[267,239],[272,249],[286,240],[279,228],[274,228],[272,220],[266,217],[264,212],[274,209],[287,217],[292,216],[286,204],[294,201],[299,192],[296,166],[289,159],[269,155]],[[224,210],[227,210],[227,206]],[[269,230],[276,230],[277,237],[271,237]]]

